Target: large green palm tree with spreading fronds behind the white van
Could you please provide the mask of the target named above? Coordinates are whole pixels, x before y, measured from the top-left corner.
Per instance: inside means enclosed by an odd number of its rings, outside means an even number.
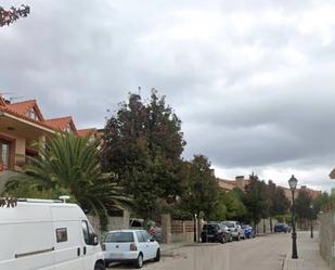
[[[57,133],[48,139],[47,146],[39,147],[39,157],[28,157],[24,173],[7,184],[7,192],[13,194],[25,183],[43,195],[68,192],[82,209],[99,215],[106,226],[107,214],[130,202],[113,173],[102,173],[98,146],[89,134]]]

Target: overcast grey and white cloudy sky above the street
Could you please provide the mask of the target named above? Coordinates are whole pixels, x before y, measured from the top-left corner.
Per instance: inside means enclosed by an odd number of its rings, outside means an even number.
[[[183,156],[216,175],[335,187],[335,2],[1,0],[28,17],[0,28],[0,92],[44,116],[104,126],[128,92],[167,97]]]

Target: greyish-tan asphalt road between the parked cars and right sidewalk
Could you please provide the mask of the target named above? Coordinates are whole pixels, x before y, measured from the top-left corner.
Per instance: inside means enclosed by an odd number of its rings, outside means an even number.
[[[291,234],[272,234],[227,244],[196,244],[166,253],[146,270],[281,270],[291,248]],[[115,265],[111,269],[134,269]]]

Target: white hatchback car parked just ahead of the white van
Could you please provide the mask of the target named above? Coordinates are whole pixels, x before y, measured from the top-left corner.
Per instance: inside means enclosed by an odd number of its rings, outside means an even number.
[[[145,230],[109,231],[102,242],[105,265],[111,262],[134,262],[143,267],[145,260],[159,261],[159,244]]]

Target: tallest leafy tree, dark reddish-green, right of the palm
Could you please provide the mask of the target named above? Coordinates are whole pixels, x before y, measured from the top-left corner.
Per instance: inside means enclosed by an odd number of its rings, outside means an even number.
[[[149,102],[130,94],[108,119],[104,141],[103,169],[119,176],[136,214],[152,218],[159,198],[172,203],[181,194],[181,121],[156,90]]]

